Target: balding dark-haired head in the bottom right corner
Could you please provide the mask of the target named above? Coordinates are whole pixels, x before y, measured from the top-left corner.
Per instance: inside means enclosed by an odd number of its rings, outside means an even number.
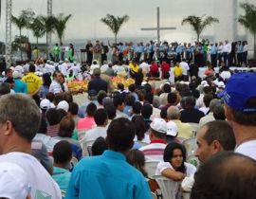
[[[194,175],[191,198],[256,198],[255,179],[255,160],[232,152],[217,154]]]

